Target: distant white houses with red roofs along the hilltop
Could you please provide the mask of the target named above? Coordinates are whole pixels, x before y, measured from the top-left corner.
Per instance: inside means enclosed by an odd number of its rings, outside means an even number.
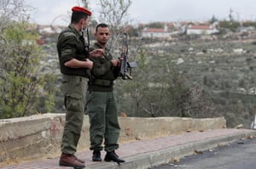
[[[42,38],[38,40],[39,44],[47,43],[45,38],[52,37],[52,34],[60,33],[66,26],[63,25],[38,25],[37,29]],[[161,27],[161,28],[160,28]],[[91,28],[91,31],[94,31]],[[127,29],[131,29],[131,25],[127,26]],[[255,28],[241,26],[240,31],[226,31],[224,39],[243,39],[247,37],[256,37]],[[137,35],[144,38],[160,38],[160,39],[176,39],[177,35],[200,35],[205,40],[212,40],[216,36],[212,36],[219,32],[218,22],[210,24],[209,22],[164,22],[158,26],[152,25],[139,25],[137,29]],[[210,39],[209,39],[210,38]]]

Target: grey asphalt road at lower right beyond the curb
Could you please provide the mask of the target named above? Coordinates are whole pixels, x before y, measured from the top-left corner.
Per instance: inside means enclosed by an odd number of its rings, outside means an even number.
[[[154,169],[255,169],[256,138],[198,152]]]

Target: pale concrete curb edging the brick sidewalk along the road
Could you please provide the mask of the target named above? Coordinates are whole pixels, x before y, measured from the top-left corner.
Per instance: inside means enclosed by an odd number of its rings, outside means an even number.
[[[207,138],[205,140],[191,142],[187,144],[180,144],[172,146],[168,149],[160,149],[144,153],[141,155],[133,155],[125,158],[125,163],[117,165],[116,163],[97,163],[90,166],[86,166],[88,169],[148,169],[153,166],[165,164],[174,159],[182,158],[186,155],[193,155],[195,150],[203,151],[207,149],[213,149],[219,145],[230,144],[238,141],[241,138],[247,138],[249,136],[255,137],[256,131],[237,132],[227,136],[220,136],[216,138]]]

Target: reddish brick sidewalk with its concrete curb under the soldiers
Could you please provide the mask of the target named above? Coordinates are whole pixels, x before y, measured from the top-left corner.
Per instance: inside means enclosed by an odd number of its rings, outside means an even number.
[[[251,129],[217,129],[204,132],[184,132],[177,135],[137,140],[120,144],[117,154],[125,160],[118,165],[114,162],[93,162],[91,151],[85,149],[76,155],[85,161],[85,168],[91,169],[148,169],[176,161],[184,156],[194,155],[207,149],[213,149],[219,145],[230,144],[244,138],[253,138],[256,130]],[[102,152],[102,158],[105,153]],[[44,159],[41,161],[29,161],[26,163],[10,164],[1,169],[68,169],[72,167],[58,166],[59,157]]]

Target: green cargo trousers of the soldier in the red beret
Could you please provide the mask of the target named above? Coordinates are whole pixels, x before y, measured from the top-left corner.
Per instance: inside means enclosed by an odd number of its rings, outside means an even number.
[[[84,104],[87,78],[62,76],[61,92],[66,107],[66,122],[61,141],[61,152],[73,155],[77,151],[84,121]]]

